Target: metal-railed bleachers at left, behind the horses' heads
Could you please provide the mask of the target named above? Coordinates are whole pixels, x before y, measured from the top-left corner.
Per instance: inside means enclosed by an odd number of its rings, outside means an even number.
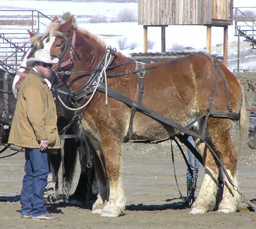
[[[30,47],[29,34],[43,32],[51,18],[38,10],[0,10],[0,68],[15,74]]]

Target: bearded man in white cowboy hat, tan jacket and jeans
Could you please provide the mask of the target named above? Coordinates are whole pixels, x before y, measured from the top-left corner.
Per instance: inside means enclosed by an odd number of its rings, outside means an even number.
[[[47,49],[36,51],[35,57],[27,60],[27,66],[33,68],[20,88],[10,130],[9,143],[25,148],[26,174],[20,194],[24,219],[59,220],[49,214],[43,198],[49,174],[47,150],[61,147],[56,107],[46,82],[52,77],[52,64],[57,62]]]

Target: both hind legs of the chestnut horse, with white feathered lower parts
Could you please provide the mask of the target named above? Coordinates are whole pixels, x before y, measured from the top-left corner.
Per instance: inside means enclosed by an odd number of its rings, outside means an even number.
[[[237,153],[234,150],[231,137],[230,137],[230,127],[232,122],[228,119],[212,119],[212,122],[209,124],[209,133],[212,139],[212,143],[215,146],[215,152],[221,159],[222,164],[227,170],[233,184],[237,187],[236,181],[236,164],[237,164]],[[202,184],[199,198],[192,205],[191,213],[203,213],[214,209],[216,203],[216,193],[218,191],[218,175],[219,175],[219,166],[217,167],[215,160],[213,160],[209,149],[207,149],[207,156],[205,160],[206,174],[204,177],[204,182]],[[209,173],[209,174],[207,174]],[[207,178],[208,177],[208,178]],[[225,175],[224,175],[225,177]],[[205,182],[209,180],[208,182]],[[224,178],[224,189],[222,200],[218,205],[218,211],[220,212],[235,212],[239,202],[240,195],[233,186],[227,181],[227,178]],[[212,190],[207,189],[207,183],[212,186]],[[206,194],[206,192],[210,192]],[[209,201],[207,198],[210,198]],[[214,199],[214,201],[213,201]],[[206,201],[208,204],[203,204]],[[207,206],[208,205],[208,206]],[[204,207],[202,207],[204,206]]]

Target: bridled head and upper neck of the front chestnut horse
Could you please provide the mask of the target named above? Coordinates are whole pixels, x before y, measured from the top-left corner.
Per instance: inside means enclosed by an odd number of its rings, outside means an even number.
[[[95,68],[105,54],[105,43],[73,25],[73,18],[74,15],[63,23],[51,23],[44,33],[44,48],[50,51],[51,56],[60,59],[54,65],[57,72]],[[61,79],[65,75],[58,76]]]

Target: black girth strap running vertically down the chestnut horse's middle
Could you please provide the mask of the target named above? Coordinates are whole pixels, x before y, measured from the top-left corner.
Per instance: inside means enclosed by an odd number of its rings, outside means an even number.
[[[139,105],[141,105],[141,101],[142,101],[142,96],[143,96],[143,92],[144,92],[143,80],[144,80],[144,76],[146,74],[146,71],[142,71],[142,68],[144,68],[143,63],[136,62],[135,70],[137,70],[137,69],[140,70],[137,73],[137,75],[139,77],[139,82],[140,82],[139,96],[138,96],[138,104]],[[136,107],[134,107],[134,106],[131,107],[130,122],[129,122],[128,132],[127,132],[127,135],[125,137],[125,141],[129,141],[129,140],[132,139],[133,120],[134,120],[134,115],[135,115],[136,110],[137,110]]]

